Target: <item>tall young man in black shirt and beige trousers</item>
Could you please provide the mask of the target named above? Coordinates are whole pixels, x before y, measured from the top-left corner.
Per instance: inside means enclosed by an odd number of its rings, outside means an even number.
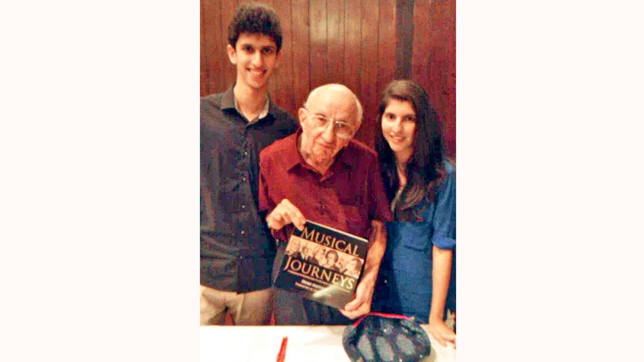
[[[227,312],[236,325],[270,321],[276,248],[258,213],[259,155],[298,128],[267,92],[280,49],[275,11],[261,3],[240,5],[227,46],[236,81],[201,99],[202,325],[223,324]]]

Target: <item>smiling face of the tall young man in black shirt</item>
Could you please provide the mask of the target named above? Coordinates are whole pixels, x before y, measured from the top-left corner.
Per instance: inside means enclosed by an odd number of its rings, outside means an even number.
[[[279,62],[278,49],[268,35],[242,33],[235,48],[227,46],[228,57],[237,67],[236,83],[254,90],[265,90]]]

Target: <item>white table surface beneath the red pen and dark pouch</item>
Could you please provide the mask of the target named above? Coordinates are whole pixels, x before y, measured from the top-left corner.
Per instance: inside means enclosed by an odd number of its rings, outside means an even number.
[[[427,325],[422,325],[427,331]],[[285,362],[349,361],[342,347],[343,325],[334,326],[201,326],[199,361],[275,362],[284,336],[289,337]],[[451,343],[442,347],[428,333],[431,354],[427,362],[454,362]]]

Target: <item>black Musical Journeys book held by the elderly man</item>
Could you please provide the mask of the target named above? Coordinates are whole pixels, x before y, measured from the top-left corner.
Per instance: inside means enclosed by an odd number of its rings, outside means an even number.
[[[354,298],[369,242],[307,220],[293,229],[274,287],[343,309]]]

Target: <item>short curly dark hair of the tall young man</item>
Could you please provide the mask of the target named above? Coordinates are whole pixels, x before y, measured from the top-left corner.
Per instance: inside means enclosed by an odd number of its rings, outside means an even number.
[[[228,42],[233,48],[242,33],[262,33],[281,49],[281,25],[275,9],[263,3],[244,3],[237,7],[228,26]]]

